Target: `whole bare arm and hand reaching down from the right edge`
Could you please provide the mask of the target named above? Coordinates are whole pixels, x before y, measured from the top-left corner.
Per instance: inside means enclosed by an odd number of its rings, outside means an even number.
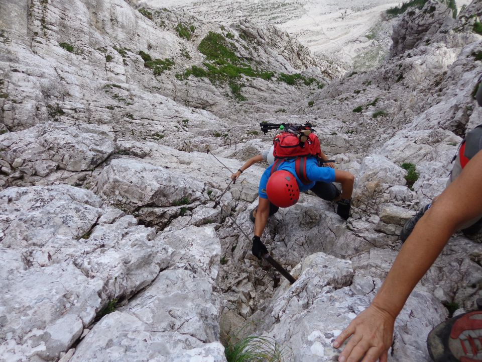
[[[351,336],[339,362],[387,362],[395,318],[450,236],[467,221],[480,217],[480,200],[482,150],[417,222],[370,307],[335,339],[333,346],[338,348]]]

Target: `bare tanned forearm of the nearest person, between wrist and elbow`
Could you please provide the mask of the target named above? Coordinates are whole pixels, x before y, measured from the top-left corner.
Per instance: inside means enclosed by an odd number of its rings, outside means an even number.
[[[429,209],[418,221],[373,300],[375,306],[393,318],[455,231],[455,226],[443,216],[443,210]]]

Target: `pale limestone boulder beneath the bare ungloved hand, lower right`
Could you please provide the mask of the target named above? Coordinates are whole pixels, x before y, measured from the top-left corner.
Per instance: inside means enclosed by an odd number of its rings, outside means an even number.
[[[380,259],[379,259],[380,260]],[[376,263],[379,265],[379,262]],[[357,263],[357,267],[360,264]],[[389,266],[389,265],[388,265]],[[375,265],[372,268],[376,269]],[[332,342],[341,330],[370,303],[381,281],[371,269],[353,272],[350,262],[324,253],[304,259],[294,270],[295,284],[284,282],[266,309],[266,326],[259,331],[289,345],[293,354],[313,360],[332,360],[338,351]],[[410,340],[410,347],[395,344],[392,361],[427,360],[423,338],[432,323],[442,320],[443,306],[426,290],[417,289],[407,301],[395,326],[395,340]],[[418,318],[411,318],[416,313]],[[417,332],[416,332],[417,331]]]

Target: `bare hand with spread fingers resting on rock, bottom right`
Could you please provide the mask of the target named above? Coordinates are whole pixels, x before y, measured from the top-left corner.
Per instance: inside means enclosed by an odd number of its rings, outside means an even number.
[[[387,362],[388,349],[392,345],[395,317],[371,305],[351,321],[348,327],[333,342],[338,348],[351,336],[343,348],[339,362]]]

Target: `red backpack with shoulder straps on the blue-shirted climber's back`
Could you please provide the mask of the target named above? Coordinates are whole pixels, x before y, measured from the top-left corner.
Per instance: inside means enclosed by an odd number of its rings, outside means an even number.
[[[306,174],[306,160],[308,157],[320,157],[321,147],[318,136],[314,133],[310,123],[304,125],[287,125],[283,132],[273,139],[273,155],[275,162],[271,174],[287,159],[296,159],[296,175],[304,185],[311,183]]]

